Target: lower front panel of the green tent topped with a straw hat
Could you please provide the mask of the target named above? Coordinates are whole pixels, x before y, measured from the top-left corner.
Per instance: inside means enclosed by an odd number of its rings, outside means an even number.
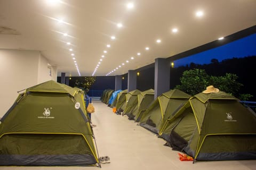
[[[248,151],[248,146],[251,150]],[[207,135],[198,147],[196,160],[256,159],[256,134]]]

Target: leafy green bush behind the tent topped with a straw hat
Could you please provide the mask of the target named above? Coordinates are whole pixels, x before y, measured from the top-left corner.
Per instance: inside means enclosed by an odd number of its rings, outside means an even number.
[[[238,94],[239,89],[243,86],[242,83],[237,81],[236,74],[226,73],[225,75],[216,77],[208,75],[205,70],[192,69],[183,72],[180,78],[181,85],[175,89],[182,90],[187,94],[194,96],[206,89],[207,86],[213,85],[214,87],[233,95],[241,100],[248,100],[252,95]]]

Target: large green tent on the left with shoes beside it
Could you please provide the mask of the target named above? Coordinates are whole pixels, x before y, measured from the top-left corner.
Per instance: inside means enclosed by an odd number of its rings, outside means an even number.
[[[46,81],[19,94],[0,122],[0,165],[98,166],[83,92]]]

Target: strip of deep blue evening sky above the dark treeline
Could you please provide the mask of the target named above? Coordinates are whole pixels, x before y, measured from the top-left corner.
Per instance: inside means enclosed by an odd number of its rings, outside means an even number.
[[[174,61],[174,67],[186,64],[189,65],[191,62],[196,64],[209,64],[212,58],[216,58],[221,62],[228,58],[240,58],[252,55],[256,55],[256,33],[229,44],[176,60]]]

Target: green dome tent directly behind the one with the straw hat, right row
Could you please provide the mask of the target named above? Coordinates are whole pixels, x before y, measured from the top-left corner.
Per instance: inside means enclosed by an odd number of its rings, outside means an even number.
[[[143,113],[139,125],[158,134],[166,120],[186,104],[190,97],[178,89],[163,93]]]

